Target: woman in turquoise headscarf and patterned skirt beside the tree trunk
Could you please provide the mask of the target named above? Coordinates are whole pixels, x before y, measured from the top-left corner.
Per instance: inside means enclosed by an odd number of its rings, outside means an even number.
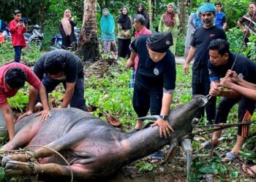
[[[115,41],[115,20],[107,8],[102,10],[102,17],[100,19],[100,28],[102,31],[102,41],[104,53],[113,52],[117,55],[116,41]]]

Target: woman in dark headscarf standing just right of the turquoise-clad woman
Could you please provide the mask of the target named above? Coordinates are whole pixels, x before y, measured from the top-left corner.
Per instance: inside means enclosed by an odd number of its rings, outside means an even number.
[[[117,20],[118,26],[118,56],[121,58],[129,57],[129,44],[131,43],[132,20],[128,16],[127,7],[121,8],[121,14]]]

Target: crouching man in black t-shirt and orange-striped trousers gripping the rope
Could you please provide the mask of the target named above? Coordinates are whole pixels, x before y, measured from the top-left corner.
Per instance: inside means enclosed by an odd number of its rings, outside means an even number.
[[[230,112],[230,109],[238,102],[239,122],[244,122],[250,119],[255,111],[255,101],[239,95],[235,90],[224,91],[222,87],[218,87],[217,84],[219,83],[220,78],[225,77],[227,71],[232,67],[233,71],[236,71],[241,79],[256,84],[255,63],[252,63],[251,60],[242,55],[237,55],[236,53],[230,52],[228,42],[223,39],[215,39],[211,41],[208,49],[210,55],[210,60],[208,61],[209,76],[211,82],[214,82],[212,85],[216,85],[215,87],[211,87],[210,94],[214,96],[222,96],[222,100],[220,101],[217,109],[215,124],[227,122],[227,115]],[[248,129],[248,125],[238,126],[236,145],[232,151],[226,154],[223,161],[236,159],[238,157],[239,151],[244,143],[244,138],[248,134]],[[220,138],[221,134],[221,130],[214,132],[212,141],[215,146],[218,145],[218,139]]]

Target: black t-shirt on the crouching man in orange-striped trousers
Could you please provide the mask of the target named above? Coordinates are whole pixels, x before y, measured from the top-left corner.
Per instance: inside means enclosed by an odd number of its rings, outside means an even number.
[[[209,76],[211,81],[219,80],[225,77],[227,70],[233,66],[236,59],[236,53],[231,52],[227,64],[222,66],[214,66],[211,61],[208,61]],[[256,84],[256,64],[242,55],[238,55],[236,63],[233,67],[241,79]]]

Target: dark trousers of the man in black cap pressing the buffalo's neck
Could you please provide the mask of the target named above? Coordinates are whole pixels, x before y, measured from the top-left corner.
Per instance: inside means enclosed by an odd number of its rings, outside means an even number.
[[[162,89],[149,90],[135,83],[132,104],[138,117],[146,116],[150,109],[151,115],[159,115],[162,108]]]

